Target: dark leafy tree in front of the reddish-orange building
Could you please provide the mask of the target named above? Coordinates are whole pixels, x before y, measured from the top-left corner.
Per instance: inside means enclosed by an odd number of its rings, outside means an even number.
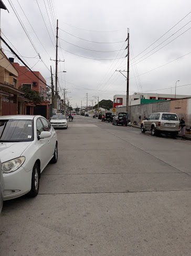
[[[22,90],[25,93],[25,98],[29,101],[31,101],[31,103],[33,103],[34,105],[37,104],[41,104],[44,103],[44,97],[40,95],[39,92],[28,88],[28,87],[19,87],[20,90]]]

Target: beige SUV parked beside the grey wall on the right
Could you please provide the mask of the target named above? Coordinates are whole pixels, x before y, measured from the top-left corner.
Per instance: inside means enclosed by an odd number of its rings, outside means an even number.
[[[170,134],[176,136],[181,130],[181,123],[175,113],[158,112],[148,116],[146,120],[141,123],[141,132],[152,131],[152,135],[160,133]]]

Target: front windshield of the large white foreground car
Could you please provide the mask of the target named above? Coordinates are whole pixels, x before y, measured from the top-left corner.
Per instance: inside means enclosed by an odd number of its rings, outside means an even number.
[[[33,141],[32,120],[0,120],[0,142]]]

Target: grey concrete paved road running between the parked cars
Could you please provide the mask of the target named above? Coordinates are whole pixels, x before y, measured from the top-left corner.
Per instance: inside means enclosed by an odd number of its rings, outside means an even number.
[[[190,255],[190,141],[76,116],[39,195],[6,201],[0,255]]]

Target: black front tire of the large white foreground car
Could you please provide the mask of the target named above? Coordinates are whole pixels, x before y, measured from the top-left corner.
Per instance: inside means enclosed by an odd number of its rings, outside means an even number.
[[[29,198],[34,198],[38,194],[39,190],[39,177],[40,177],[40,168],[36,162],[33,167],[32,179],[31,179],[31,190],[28,192]]]

